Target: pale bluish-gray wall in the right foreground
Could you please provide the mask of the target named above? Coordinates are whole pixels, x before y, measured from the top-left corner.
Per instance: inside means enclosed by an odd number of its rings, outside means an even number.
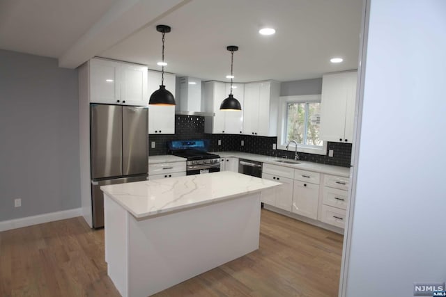
[[[369,3],[346,296],[413,296],[446,280],[446,1]]]

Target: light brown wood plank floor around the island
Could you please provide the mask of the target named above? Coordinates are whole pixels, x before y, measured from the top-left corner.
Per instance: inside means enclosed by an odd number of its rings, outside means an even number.
[[[259,250],[155,296],[337,296],[341,251],[341,235],[263,209]],[[120,296],[104,230],[79,217],[0,232],[0,296]]]

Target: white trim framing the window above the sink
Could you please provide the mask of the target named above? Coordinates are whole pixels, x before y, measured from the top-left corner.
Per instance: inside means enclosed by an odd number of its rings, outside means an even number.
[[[277,125],[277,150],[286,150],[284,140],[286,139],[286,104],[288,103],[306,103],[321,102],[321,94],[319,95],[295,95],[279,97],[279,120]],[[295,151],[295,144],[291,143],[289,151]],[[323,141],[321,148],[309,147],[307,145],[298,145],[298,152],[306,152],[309,154],[327,154],[327,141]]]

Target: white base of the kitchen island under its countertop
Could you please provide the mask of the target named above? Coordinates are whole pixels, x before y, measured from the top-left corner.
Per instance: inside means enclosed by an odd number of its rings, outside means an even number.
[[[105,194],[105,261],[122,296],[148,296],[259,248],[260,192],[137,219]]]

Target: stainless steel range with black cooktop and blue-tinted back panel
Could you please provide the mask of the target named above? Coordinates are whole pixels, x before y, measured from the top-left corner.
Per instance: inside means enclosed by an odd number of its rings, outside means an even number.
[[[206,139],[169,141],[169,150],[175,156],[187,159],[186,175],[220,171],[220,156],[208,153]]]

